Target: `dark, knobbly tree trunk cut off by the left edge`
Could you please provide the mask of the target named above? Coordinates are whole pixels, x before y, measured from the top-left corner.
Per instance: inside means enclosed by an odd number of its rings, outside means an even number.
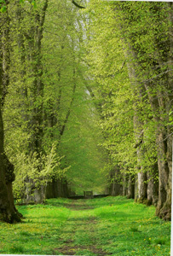
[[[7,2],[7,6],[8,6]],[[3,104],[9,85],[9,13],[0,14],[3,29],[0,34],[0,220],[14,223],[20,221],[20,213],[14,207],[12,182],[14,166],[4,153]]]

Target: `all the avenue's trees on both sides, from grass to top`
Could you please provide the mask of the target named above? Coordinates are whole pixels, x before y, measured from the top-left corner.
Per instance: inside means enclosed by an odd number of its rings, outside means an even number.
[[[172,3],[1,2],[2,219],[84,190],[170,219],[172,18]]]

